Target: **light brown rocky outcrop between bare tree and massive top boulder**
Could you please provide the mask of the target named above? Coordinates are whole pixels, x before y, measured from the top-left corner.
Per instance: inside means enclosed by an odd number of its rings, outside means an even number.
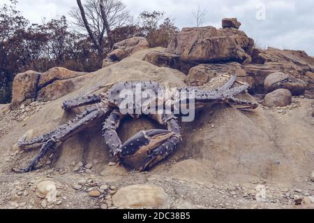
[[[135,36],[128,38],[119,43],[115,43],[112,52],[107,54],[107,58],[103,60],[103,67],[119,62],[121,59],[133,55],[133,53],[149,48],[146,38]]]

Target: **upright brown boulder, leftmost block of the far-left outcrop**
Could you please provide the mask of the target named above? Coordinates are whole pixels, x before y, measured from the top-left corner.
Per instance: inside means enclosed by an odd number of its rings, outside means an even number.
[[[29,105],[36,100],[37,85],[40,73],[36,71],[27,71],[19,73],[13,80],[13,92],[11,109],[20,108],[21,104]]]

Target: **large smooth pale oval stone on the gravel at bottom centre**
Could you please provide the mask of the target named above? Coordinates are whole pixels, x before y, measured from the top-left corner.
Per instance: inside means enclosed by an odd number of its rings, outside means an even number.
[[[164,206],[167,203],[167,194],[161,187],[132,185],[119,189],[112,196],[112,201],[119,208],[152,208]]]

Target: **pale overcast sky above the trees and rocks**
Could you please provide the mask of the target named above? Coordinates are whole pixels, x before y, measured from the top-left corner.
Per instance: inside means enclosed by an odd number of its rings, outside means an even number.
[[[5,2],[8,0],[1,0]],[[223,17],[237,17],[262,48],[305,50],[314,56],[313,0],[122,0],[137,17],[143,10],[165,11],[178,27],[193,27],[197,6],[207,9],[203,25],[221,26]],[[1,4],[1,3],[0,3]],[[75,0],[19,0],[18,8],[31,22],[67,15]]]

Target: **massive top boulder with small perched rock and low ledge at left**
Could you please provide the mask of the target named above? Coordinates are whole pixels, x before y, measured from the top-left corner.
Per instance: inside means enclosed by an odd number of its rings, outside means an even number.
[[[239,62],[249,64],[254,41],[239,31],[236,19],[225,19],[225,29],[215,27],[184,28],[174,34],[165,52],[150,52],[147,62],[179,69],[188,74],[198,64]],[[231,28],[229,28],[231,27]]]

